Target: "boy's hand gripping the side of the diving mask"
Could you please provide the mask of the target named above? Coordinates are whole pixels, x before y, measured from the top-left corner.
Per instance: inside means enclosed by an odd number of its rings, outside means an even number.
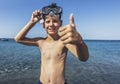
[[[33,23],[37,23],[40,19],[41,19],[41,12],[39,10],[35,10],[33,13],[32,13],[32,17],[31,17],[31,21]]]

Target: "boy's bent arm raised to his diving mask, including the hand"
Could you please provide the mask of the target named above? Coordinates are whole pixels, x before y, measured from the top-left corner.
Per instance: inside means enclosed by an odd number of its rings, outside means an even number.
[[[37,46],[37,41],[40,38],[27,38],[29,30],[41,19],[40,11],[34,11],[31,20],[28,24],[16,35],[15,41],[25,45]]]

